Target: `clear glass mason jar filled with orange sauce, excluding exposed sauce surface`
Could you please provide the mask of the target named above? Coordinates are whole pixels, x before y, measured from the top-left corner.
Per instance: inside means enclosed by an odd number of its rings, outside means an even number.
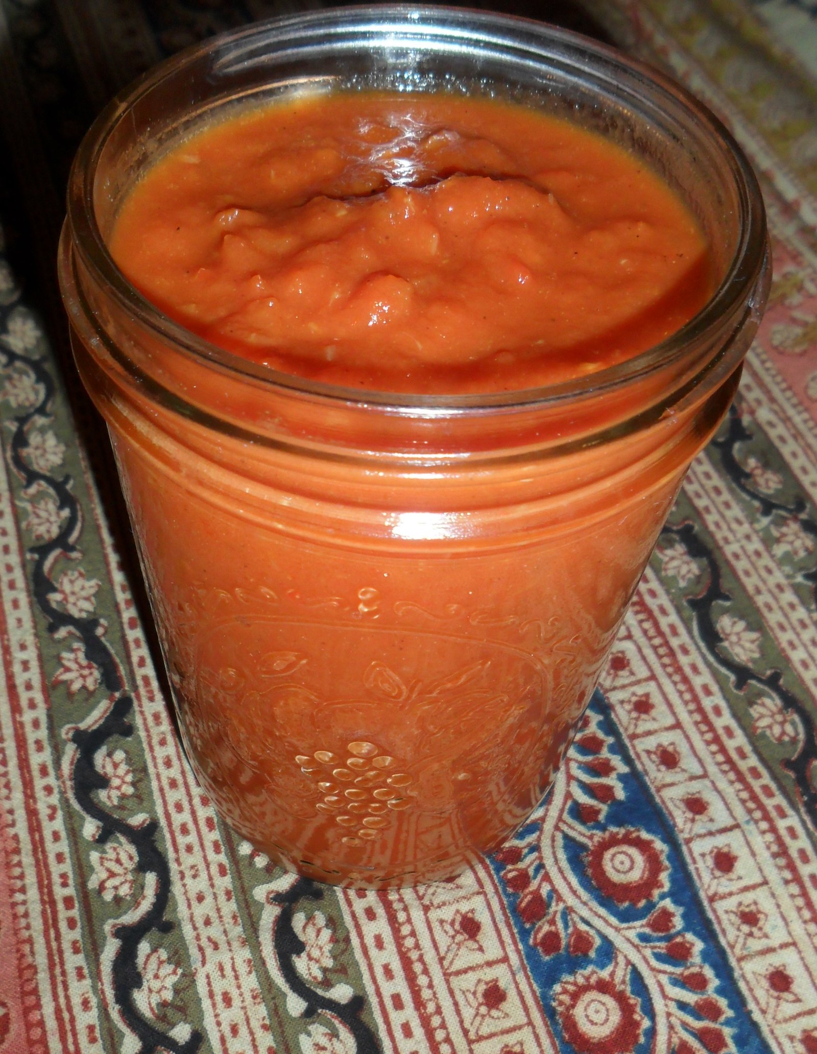
[[[643,157],[717,288],[628,362],[489,395],[277,373],[169,319],[106,242],[135,179],[236,105],[315,90],[499,96]],[[322,881],[412,884],[547,792],[767,294],[757,182],[661,75],[491,14],[341,8],[253,25],[115,99],[74,164],[60,280],[104,416],[187,753],[220,814]]]

